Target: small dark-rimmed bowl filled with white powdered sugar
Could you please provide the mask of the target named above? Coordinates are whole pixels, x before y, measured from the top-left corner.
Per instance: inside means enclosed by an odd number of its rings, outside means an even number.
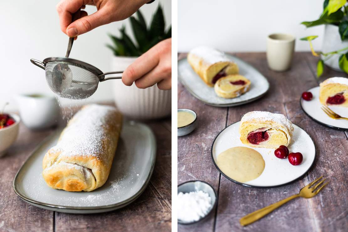
[[[177,186],[177,222],[192,224],[206,218],[216,205],[215,189],[204,181],[188,181]]]

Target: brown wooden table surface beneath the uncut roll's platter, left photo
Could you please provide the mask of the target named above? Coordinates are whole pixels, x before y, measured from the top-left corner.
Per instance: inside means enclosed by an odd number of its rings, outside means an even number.
[[[62,112],[69,114],[70,110]],[[101,214],[59,213],[29,205],[17,197],[12,187],[17,171],[35,147],[55,132],[31,131],[21,123],[17,141],[0,158],[0,231],[171,231],[171,119],[144,123],[157,141],[150,183],[130,205]]]

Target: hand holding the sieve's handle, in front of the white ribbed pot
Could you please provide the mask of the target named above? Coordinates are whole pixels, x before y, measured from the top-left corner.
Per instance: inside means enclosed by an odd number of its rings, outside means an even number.
[[[162,90],[172,88],[172,39],[163,40],[138,57],[122,74],[122,82],[145,89],[157,83]]]

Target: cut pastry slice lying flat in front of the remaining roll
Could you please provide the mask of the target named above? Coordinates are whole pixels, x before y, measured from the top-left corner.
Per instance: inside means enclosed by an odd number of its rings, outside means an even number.
[[[250,80],[242,75],[228,75],[216,81],[214,90],[219,97],[235,98],[246,93],[250,89],[250,84]]]

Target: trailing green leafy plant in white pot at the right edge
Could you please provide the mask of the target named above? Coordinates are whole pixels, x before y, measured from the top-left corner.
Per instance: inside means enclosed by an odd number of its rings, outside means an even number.
[[[347,0],[325,0],[323,12],[315,21],[302,22],[306,27],[325,24],[323,47],[321,52],[315,52],[311,41],[317,35],[301,38],[309,41],[312,54],[320,56],[317,63],[317,76],[324,70],[324,64],[334,70],[348,73],[348,5]]]

